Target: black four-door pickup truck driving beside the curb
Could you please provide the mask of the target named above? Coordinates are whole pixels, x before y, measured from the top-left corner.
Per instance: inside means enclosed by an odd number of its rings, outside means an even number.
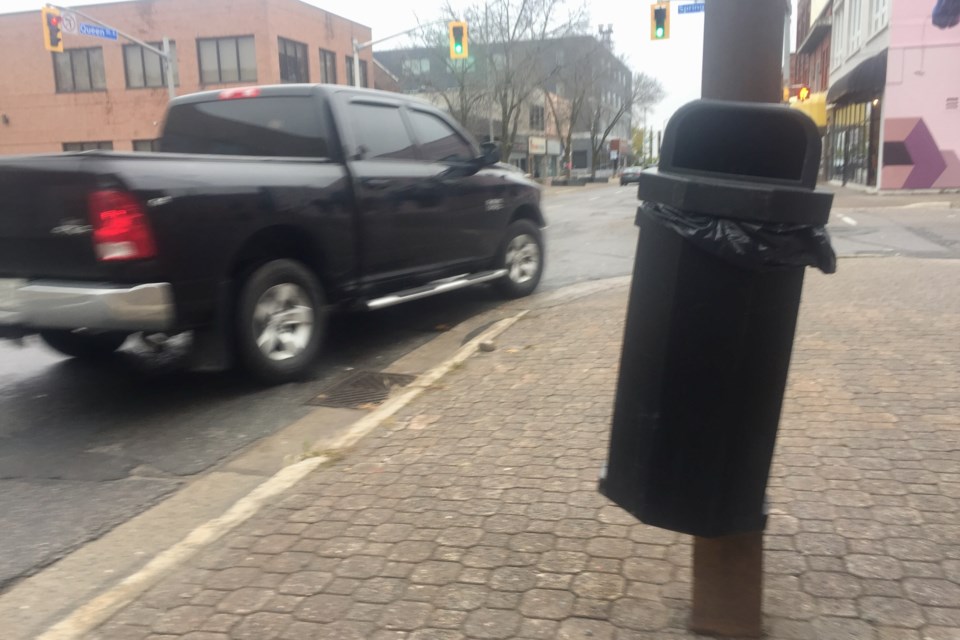
[[[333,308],[540,281],[540,188],[425,102],[202,92],[170,103],[160,149],[0,160],[0,337],[96,358],[190,331],[203,367],[280,382]]]

